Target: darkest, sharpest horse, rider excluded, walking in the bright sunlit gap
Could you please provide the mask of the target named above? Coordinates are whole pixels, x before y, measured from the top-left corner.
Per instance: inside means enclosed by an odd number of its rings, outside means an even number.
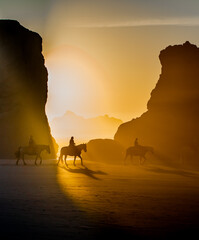
[[[82,150],[84,150],[84,152],[87,152],[86,144],[80,144],[80,145],[74,146],[72,148],[71,147],[61,148],[60,157],[59,157],[57,165],[59,164],[60,160],[63,163],[63,156],[65,156],[64,161],[65,161],[66,166],[68,166],[66,163],[66,158],[69,155],[69,156],[74,156],[74,162],[73,162],[74,166],[75,166],[76,157],[79,157],[81,159],[81,165],[83,166],[83,160],[81,157]]]

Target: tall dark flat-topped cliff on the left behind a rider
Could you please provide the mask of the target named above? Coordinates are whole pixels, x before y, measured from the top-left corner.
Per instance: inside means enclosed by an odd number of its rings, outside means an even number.
[[[0,158],[14,157],[19,146],[53,139],[45,114],[48,73],[42,39],[17,21],[0,20]]]

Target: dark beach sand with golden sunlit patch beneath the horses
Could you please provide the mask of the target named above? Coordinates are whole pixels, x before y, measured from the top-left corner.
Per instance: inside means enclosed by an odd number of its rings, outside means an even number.
[[[199,172],[0,162],[1,239],[199,237]]]

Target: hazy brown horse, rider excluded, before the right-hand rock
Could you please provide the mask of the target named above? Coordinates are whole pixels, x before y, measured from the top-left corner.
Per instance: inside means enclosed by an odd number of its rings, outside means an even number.
[[[140,157],[140,165],[143,164],[146,160],[145,154],[147,152],[153,153],[153,148],[152,147],[145,147],[145,146],[134,146],[134,147],[129,147],[126,150],[126,156],[124,159],[124,163],[126,163],[126,159],[128,156],[131,157],[131,161],[133,160],[133,156],[139,156]],[[143,162],[141,162],[143,160]]]

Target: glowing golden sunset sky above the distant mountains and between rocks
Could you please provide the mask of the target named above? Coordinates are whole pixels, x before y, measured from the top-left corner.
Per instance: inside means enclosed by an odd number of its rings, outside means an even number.
[[[199,45],[196,0],[0,0],[0,16],[43,38],[50,120],[67,110],[139,116],[161,72],[160,51]]]

